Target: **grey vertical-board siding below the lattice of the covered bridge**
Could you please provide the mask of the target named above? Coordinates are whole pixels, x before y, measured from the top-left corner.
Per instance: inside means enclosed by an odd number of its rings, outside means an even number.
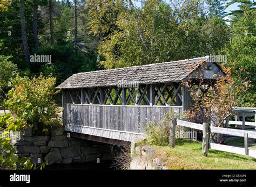
[[[122,106],[67,104],[66,124],[144,133],[145,125],[164,114],[182,112],[182,106]]]

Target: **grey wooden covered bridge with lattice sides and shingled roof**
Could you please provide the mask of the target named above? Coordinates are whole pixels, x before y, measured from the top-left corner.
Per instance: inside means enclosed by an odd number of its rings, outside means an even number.
[[[223,75],[208,56],[74,74],[60,84],[63,125],[74,136],[105,143],[145,138],[145,126],[164,114],[190,108],[182,84],[202,79],[210,84]]]

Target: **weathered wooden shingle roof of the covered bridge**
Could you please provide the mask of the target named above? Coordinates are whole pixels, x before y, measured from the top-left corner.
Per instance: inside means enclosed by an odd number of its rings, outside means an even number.
[[[193,73],[208,56],[172,62],[147,64],[110,70],[74,74],[58,85],[58,89],[117,86],[118,82],[138,84],[180,82]]]

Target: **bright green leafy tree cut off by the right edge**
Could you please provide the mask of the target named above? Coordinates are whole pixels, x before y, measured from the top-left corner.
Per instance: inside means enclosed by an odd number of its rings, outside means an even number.
[[[238,101],[240,106],[254,107],[256,105],[256,19],[255,11],[248,7],[244,8],[243,16],[240,17],[232,26],[231,44],[226,46],[227,66],[232,67],[233,76],[238,80],[238,76],[250,77],[252,84]],[[248,33],[247,35],[245,33]],[[241,71],[242,70],[242,71]],[[239,81],[239,80],[238,80]]]

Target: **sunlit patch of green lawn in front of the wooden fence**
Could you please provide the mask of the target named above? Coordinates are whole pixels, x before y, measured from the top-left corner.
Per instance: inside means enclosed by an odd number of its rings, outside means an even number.
[[[168,169],[256,169],[252,157],[208,150],[208,156],[201,155],[201,142],[176,140],[175,148],[156,147],[154,157],[163,161]]]

